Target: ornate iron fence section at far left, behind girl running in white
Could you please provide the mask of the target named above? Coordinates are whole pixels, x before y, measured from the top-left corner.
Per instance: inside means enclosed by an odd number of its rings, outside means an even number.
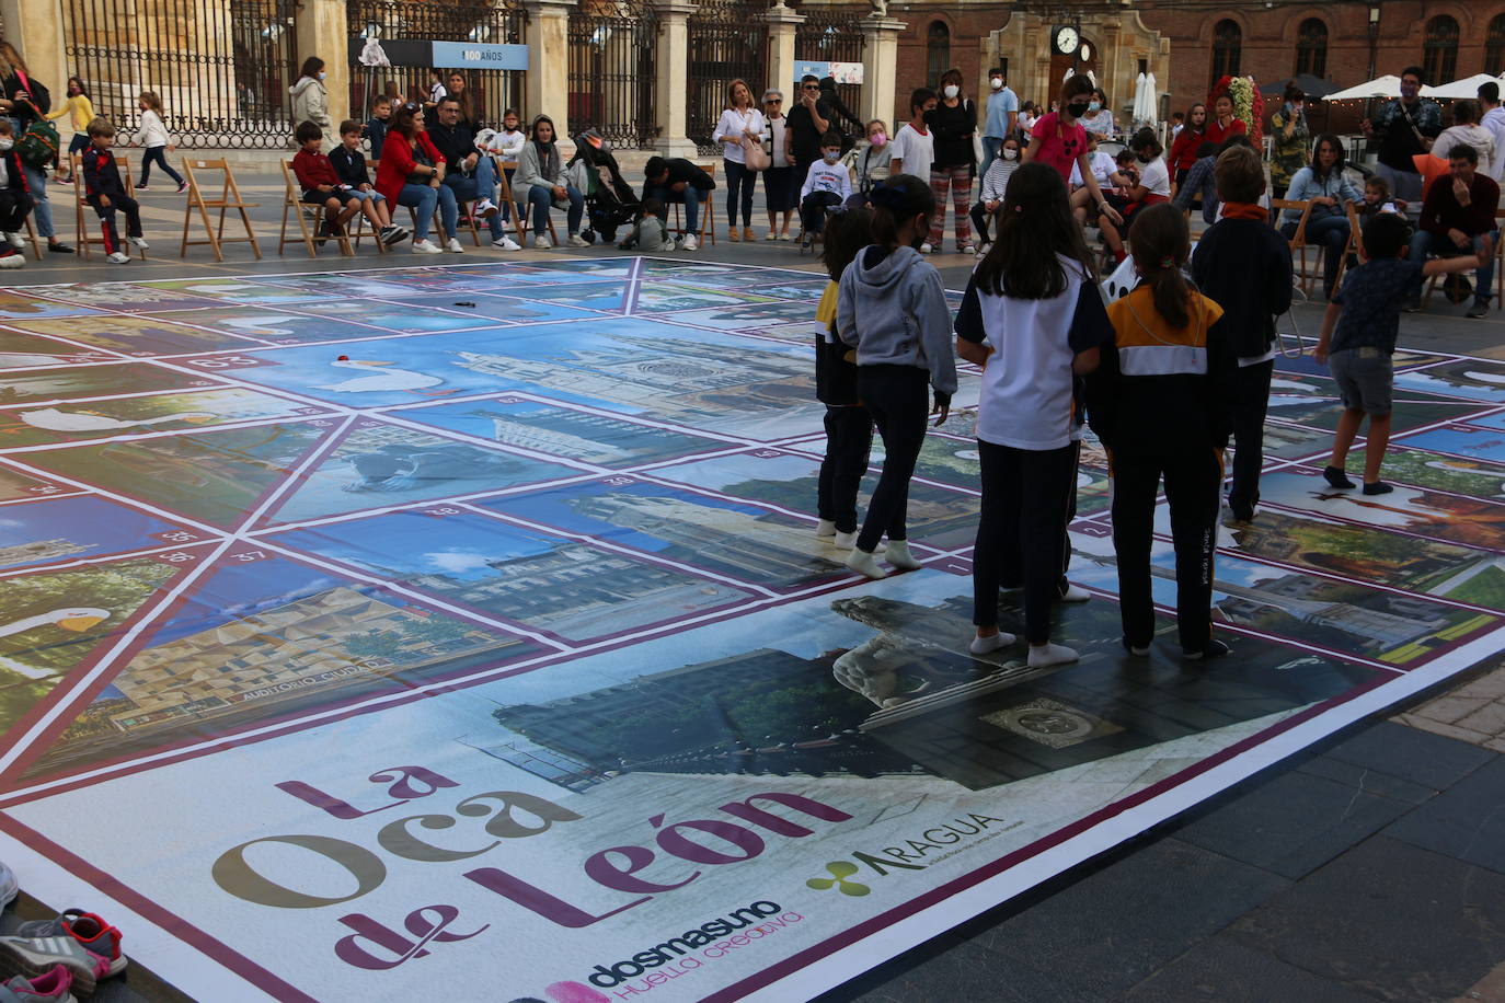
[[[140,128],[140,93],[155,90],[179,146],[277,149],[292,135],[296,8],[296,0],[65,0],[66,53],[95,110],[126,132]],[[62,95],[62,80],[48,83]]]

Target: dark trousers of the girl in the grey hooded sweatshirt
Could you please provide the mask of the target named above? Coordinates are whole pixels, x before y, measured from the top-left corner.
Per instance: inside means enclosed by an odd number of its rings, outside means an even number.
[[[883,436],[883,474],[856,538],[858,550],[871,553],[885,534],[889,540],[909,537],[909,478],[926,442],[930,371],[915,365],[859,365],[856,379],[873,424]]]

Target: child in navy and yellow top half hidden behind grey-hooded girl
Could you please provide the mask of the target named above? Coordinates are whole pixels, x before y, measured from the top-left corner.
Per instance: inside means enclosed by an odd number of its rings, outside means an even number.
[[[816,398],[826,406],[826,456],[820,460],[817,537],[850,550],[856,546],[856,493],[873,450],[873,417],[858,392],[856,352],[837,337],[837,283],[871,239],[873,211],[840,209],[826,221],[825,265],[831,281],[816,307],[826,329],[816,335]]]

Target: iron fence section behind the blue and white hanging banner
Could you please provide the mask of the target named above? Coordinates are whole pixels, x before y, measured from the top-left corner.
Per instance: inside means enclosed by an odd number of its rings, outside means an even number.
[[[346,0],[345,18],[351,38],[433,39],[439,42],[527,42],[528,15],[521,0]],[[351,65],[351,113],[367,117],[372,101],[388,92],[421,101],[429,93],[429,66]],[[448,68],[435,66],[433,69]],[[527,74],[510,69],[461,71],[471,92],[476,120],[495,128],[507,108],[527,119]]]

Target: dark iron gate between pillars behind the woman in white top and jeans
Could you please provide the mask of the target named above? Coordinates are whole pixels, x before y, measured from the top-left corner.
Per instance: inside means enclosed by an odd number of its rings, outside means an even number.
[[[727,84],[748,81],[757,101],[769,83],[766,11],[765,3],[701,0],[689,15],[689,138],[703,155],[721,149],[710,134],[727,107]]]

